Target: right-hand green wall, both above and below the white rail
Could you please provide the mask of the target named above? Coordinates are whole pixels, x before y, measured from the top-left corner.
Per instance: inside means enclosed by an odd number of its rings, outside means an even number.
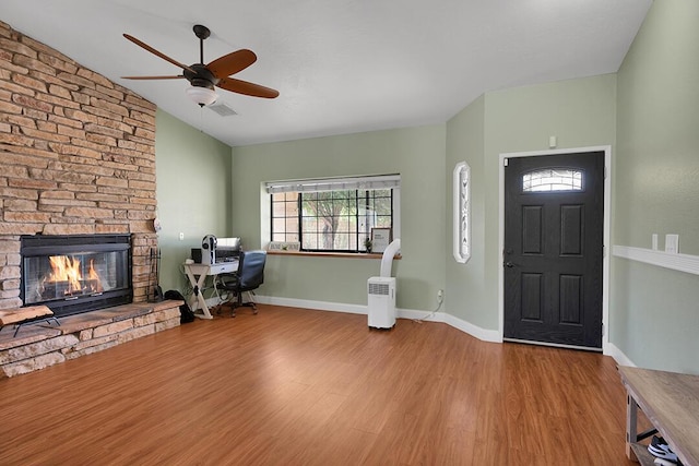
[[[699,255],[699,2],[655,1],[618,72],[614,243],[678,234]],[[615,258],[612,342],[636,365],[699,373],[699,277]]]

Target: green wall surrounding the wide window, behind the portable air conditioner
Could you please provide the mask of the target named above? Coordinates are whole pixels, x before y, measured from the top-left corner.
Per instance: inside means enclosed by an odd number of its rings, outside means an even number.
[[[235,147],[233,230],[260,247],[260,184],[353,175],[401,175],[401,252],[396,306],[433,310],[445,289],[443,124]],[[262,295],[366,306],[378,259],[270,255]]]

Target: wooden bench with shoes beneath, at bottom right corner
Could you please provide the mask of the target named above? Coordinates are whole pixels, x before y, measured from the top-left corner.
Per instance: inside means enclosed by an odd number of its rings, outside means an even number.
[[[619,366],[628,393],[626,455],[643,465],[653,457],[638,442],[653,432],[638,432],[640,407],[684,466],[699,466],[699,375]]]

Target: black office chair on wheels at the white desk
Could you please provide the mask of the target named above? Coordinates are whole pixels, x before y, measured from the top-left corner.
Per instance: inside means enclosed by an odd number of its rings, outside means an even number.
[[[252,299],[253,290],[264,283],[264,263],[266,262],[266,251],[240,251],[238,256],[238,272],[233,274],[221,274],[217,277],[216,288],[228,291],[229,299],[221,306],[230,307],[230,316],[236,316],[236,308],[252,308],[252,313],[258,313],[257,304]],[[248,292],[249,301],[242,302],[242,294]],[[221,307],[218,308],[221,313]]]

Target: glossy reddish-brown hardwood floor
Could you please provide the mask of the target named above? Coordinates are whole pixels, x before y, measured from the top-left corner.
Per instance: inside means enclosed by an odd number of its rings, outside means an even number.
[[[612,358],[259,309],[1,380],[0,464],[633,464]]]

